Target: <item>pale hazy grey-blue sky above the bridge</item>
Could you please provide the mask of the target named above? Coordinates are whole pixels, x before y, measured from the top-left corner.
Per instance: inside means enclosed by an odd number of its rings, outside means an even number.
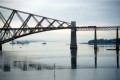
[[[0,0],[0,6],[67,22],[76,21],[80,26],[120,25],[120,0]],[[62,32],[58,31],[58,34]],[[65,34],[70,35],[69,33]],[[106,32],[106,34],[110,33]]]

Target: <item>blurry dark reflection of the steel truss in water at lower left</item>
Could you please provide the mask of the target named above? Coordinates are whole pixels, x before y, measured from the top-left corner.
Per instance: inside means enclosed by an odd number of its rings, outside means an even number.
[[[0,70],[2,71],[11,71],[11,70],[43,70],[49,69],[53,70],[53,64],[43,64],[40,62],[32,61],[24,57],[16,57],[15,55],[10,54],[9,52],[3,52],[4,54],[0,56]],[[60,66],[56,66],[57,69],[62,69]]]

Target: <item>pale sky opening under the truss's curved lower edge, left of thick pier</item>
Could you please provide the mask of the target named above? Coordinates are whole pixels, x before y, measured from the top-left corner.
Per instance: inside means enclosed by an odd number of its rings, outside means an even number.
[[[9,44],[13,39],[11,39],[9,42],[5,44]],[[51,31],[44,31],[44,32],[38,32],[33,34],[28,34],[25,36],[18,37],[14,40],[40,40],[42,42],[64,42],[65,44],[70,43],[70,29],[59,29],[59,30],[51,30]],[[4,46],[4,44],[3,44]],[[6,47],[3,47],[3,50]]]

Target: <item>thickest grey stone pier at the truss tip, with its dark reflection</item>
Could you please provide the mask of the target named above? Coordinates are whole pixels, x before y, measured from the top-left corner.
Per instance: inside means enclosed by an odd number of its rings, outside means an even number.
[[[71,22],[71,68],[77,68],[77,39],[76,39],[76,22]]]

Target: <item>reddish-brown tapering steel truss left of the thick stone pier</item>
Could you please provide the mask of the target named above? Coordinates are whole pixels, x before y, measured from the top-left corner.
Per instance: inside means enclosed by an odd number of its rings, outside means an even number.
[[[31,13],[27,13],[27,12],[15,10],[15,9],[10,9],[3,6],[0,6],[0,9],[11,11],[11,14],[9,15],[8,19],[6,19],[5,16],[2,14],[2,11],[0,11],[0,20],[3,23],[3,26],[0,27],[0,43],[1,44],[17,39],[19,37],[33,34],[33,33],[38,33],[38,32],[43,32],[48,30],[55,30],[58,28],[64,29],[66,27],[69,27],[70,25],[70,23],[65,21],[52,19],[44,16],[39,16],[36,14],[31,14]],[[27,18],[25,20],[23,19],[21,13],[27,15]],[[12,20],[15,15],[22,23],[17,28],[11,27],[11,23],[14,23],[12,22]],[[32,27],[28,26],[28,22],[30,21],[31,18],[36,22],[36,25]],[[44,26],[44,24],[47,24],[47,26]]]

